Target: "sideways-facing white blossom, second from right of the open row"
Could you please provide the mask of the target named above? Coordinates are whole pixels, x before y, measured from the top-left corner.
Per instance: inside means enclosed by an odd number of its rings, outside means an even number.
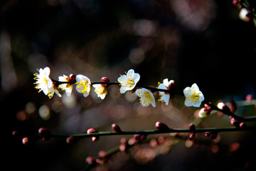
[[[157,87],[158,89],[171,89],[175,87],[175,81],[174,80],[170,80],[168,81],[168,79],[164,79],[163,83],[159,84],[159,87]],[[159,101],[165,102],[166,105],[169,104],[169,99],[170,99],[170,94],[166,93],[166,92],[159,92],[159,96],[160,99]],[[172,94],[172,97],[174,96],[174,94]]]

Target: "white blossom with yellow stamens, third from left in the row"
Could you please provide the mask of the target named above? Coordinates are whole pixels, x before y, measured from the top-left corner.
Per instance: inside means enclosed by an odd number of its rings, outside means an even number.
[[[77,75],[75,77],[75,80],[77,81],[75,84],[77,84],[76,86],[76,90],[79,93],[82,93],[83,96],[88,96],[90,94],[90,90],[91,90],[91,85],[92,83],[90,82],[90,79],[84,75]]]

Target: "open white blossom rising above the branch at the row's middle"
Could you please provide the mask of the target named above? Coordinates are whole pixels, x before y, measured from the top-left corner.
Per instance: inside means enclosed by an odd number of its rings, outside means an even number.
[[[138,73],[134,73],[134,70],[129,70],[127,75],[120,75],[117,81],[121,84],[120,93],[124,94],[127,90],[132,90],[136,86],[137,82],[139,82],[140,75]]]

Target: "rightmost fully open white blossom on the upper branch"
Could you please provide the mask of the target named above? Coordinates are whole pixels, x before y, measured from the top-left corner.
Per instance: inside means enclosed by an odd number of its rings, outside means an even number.
[[[198,85],[194,83],[191,87],[186,87],[183,90],[186,97],[185,106],[199,107],[201,102],[204,100],[203,93],[199,90]]]

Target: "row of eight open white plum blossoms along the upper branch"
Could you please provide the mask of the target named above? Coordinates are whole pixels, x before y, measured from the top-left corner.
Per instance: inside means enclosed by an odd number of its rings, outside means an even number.
[[[118,82],[110,82],[110,79],[107,77],[102,77],[101,82],[91,82],[88,77],[85,75],[73,75],[69,77],[66,75],[58,77],[57,80],[50,79],[50,68],[45,67],[44,69],[39,69],[39,74],[35,74],[36,79],[36,89],[39,89],[39,92],[43,91],[44,94],[48,95],[49,98],[53,94],[57,94],[61,97],[59,89],[65,91],[67,96],[71,95],[73,91],[73,84],[76,84],[76,91],[83,96],[88,96],[92,87],[95,88],[95,93],[100,99],[105,99],[107,95],[107,87],[110,84],[119,83],[120,93],[124,94],[127,91],[135,92],[139,96],[139,101],[142,106],[156,106],[155,94],[154,92],[159,92],[159,101],[164,102],[166,105],[169,104],[170,99],[174,99],[176,82],[174,80],[164,79],[163,83],[159,82],[158,87],[144,87],[138,86],[140,75],[135,73],[134,70],[130,69],[128,72],[125,72],[125,75],[120,75],[118,77]],[[109,82],[110,84],[107,84]],[[185,96],[185,106],[195,106],[200,107],[201,102],[204,100],[203,93],[199,90],[198,85],[194,83],[191,87],[186,87],[183,89],[183,94]]]

